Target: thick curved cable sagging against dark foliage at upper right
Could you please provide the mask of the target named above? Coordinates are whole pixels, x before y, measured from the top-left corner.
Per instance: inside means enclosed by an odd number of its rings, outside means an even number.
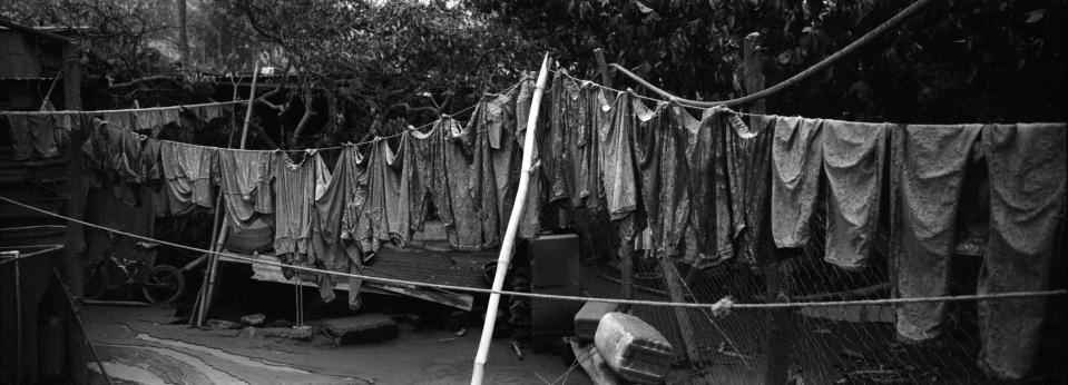
[[[844,57],[853,53],[853,51],[856,51],[859,48],[868,45],[868,43],[871,42],[872,40],[875,40],[875,38],[878,38],[880,34],[883,34],[884,32],[886,32],[886,31],[890,30],[891,28],[898,27],[898,24],[900,24],[901,22],[905,21],[905,19],[909,19],[910,17],[912,17],[913,14],[915,14],[921,8],[923,8],[924,6],[927,6],[929,2],[930,2],[930,0],[918,0],[917,2],[913,2],[912,4],[910,4],[909,7],[907,7],[905,9],[901,10],[901,12],[898,12],[898,14],[894,14],[894,17],[890,18],[889,20],[886,20],[885,22],[883,22],[883,23],[880,24],[879,27],[875,27],[875,29],[872,29],[872,30],[869,31],[866,34],[862,36],[860,39],[856,39],[855,41],[851,42],[849,46],[845,46],[845,48],[842,48],[841,50],[832,53],[831,56],[829,56],[829,57],[826,57],[825,59],[821,60],[820,62],[815,63],[814,66],[806,68],[804,71],[797,72],[797,75],[794,75],[794,76],[791,77],[790,79],[783,80],[782,82],[780,82],[780,83],[777,83],[777,85],[775,85],[775,86],[772,86],[772,87],[765,88],[765,89],[763,89],[763,90],[761,90],[761,91],[753,92],[753,93],[749,93],[749,95],[747,95],[747,96],[744,96],[744,97],[741,97],[741,98],[735,98],[735,99],[721,100],[721,101],[699,101],[699,100],[683,99],[683,98],[676,97],[676,96],[674,96],[674,95],[670,95],[670,93],[668,93],[667,91],[665,91],[665,90],[663,90],[663,89],[660,89],[660,88],[658,88],[658,87],[656,87],[656,86],[653,86],[651,83],[649,83],[649,82],[646,81],[645,79],[641,79],[640,77],[638,77],[638,76],[635,75],[634,72],[630,72],[629,70],[627,70],[627,69],[624,68],[623,66],[619,66],[619,65],[617,65],[617,63],[610,63],[610,65],[608,65],[608,66],[610,66],[611,68],[615,68],[616,70],[619,70],[620,72],[623,72],[623,73],[626,75],[627,77],[634,79],[635,81],[637,81],[637,82],[638,82],[639,85],[641,85],[643,87],[648,88],[648,89],[651,90],[653,92],[656,92],[656,93],[660,95],[662,97],[668,98],[668,99],[670,99],[672,101],[675,101],[675,102],[677,102],[677,103],[679,103],[679,105],[683,105],[683,106],[686,106],[686,107],[712,108],[712,107],[716,107],[716,106],[726,106],[726,107],[744,106],[744,105],[748,105],[748,103],[751,103],[751,102],[753,102],[753,101],[767,98],[767,97],[772,96],[773,93],[776,93],[776,92],[778,92],[778,91],[782,91],[782,90],[786,89],[787,87],[792,87],[792,86],[801,82],[802,80],[805,80],[805,79],[807,79],[809,77],[815,75],[816,72],[820,72],[820,71],[826,69],[827,67],[831,67],[831,65],[833,65],[834,62],[836,62],[836,61],[841,60],[842,58],[844,58]]]

